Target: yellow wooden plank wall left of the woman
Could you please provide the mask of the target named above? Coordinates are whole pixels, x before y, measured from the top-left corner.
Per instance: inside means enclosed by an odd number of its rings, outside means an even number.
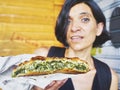
[[[0,0],[0,56],[62,46],[54,36],[64,0]]]

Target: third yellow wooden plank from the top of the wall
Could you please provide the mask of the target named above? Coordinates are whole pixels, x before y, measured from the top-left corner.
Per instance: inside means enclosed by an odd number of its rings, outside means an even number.
[[[3,15],[0,16],[1,22],[7,23],[22,23],[22,24],[54,24],[54,17],[51,16],[16,16],[16,15]]]

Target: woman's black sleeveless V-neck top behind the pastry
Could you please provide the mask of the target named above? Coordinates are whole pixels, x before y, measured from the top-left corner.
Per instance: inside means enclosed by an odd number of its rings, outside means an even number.
[[[51,47],[48,57],[64,57],[65,48]],[[93,81],[92,90],[110,90],[111,71],[107,64],[93,57],[96,74]],[[75,90],[71,78],[59,90]]]

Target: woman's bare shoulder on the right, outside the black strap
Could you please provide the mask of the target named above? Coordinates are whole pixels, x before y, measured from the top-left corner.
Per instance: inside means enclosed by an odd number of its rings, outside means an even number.
[[[118,90],[118,74],[113,69],[110,70],[112,74],[112,82],[111,82],[110,90]]]

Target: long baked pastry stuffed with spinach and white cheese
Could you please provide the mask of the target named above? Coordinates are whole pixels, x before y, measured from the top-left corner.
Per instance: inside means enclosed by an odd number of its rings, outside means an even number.
[[[46,75],[53,73],[77,74],[88,72],[89,65],[86,61],[74,58],[58,57],[32,57],[31,60],[22,62],[13,69],[12,77]]]

